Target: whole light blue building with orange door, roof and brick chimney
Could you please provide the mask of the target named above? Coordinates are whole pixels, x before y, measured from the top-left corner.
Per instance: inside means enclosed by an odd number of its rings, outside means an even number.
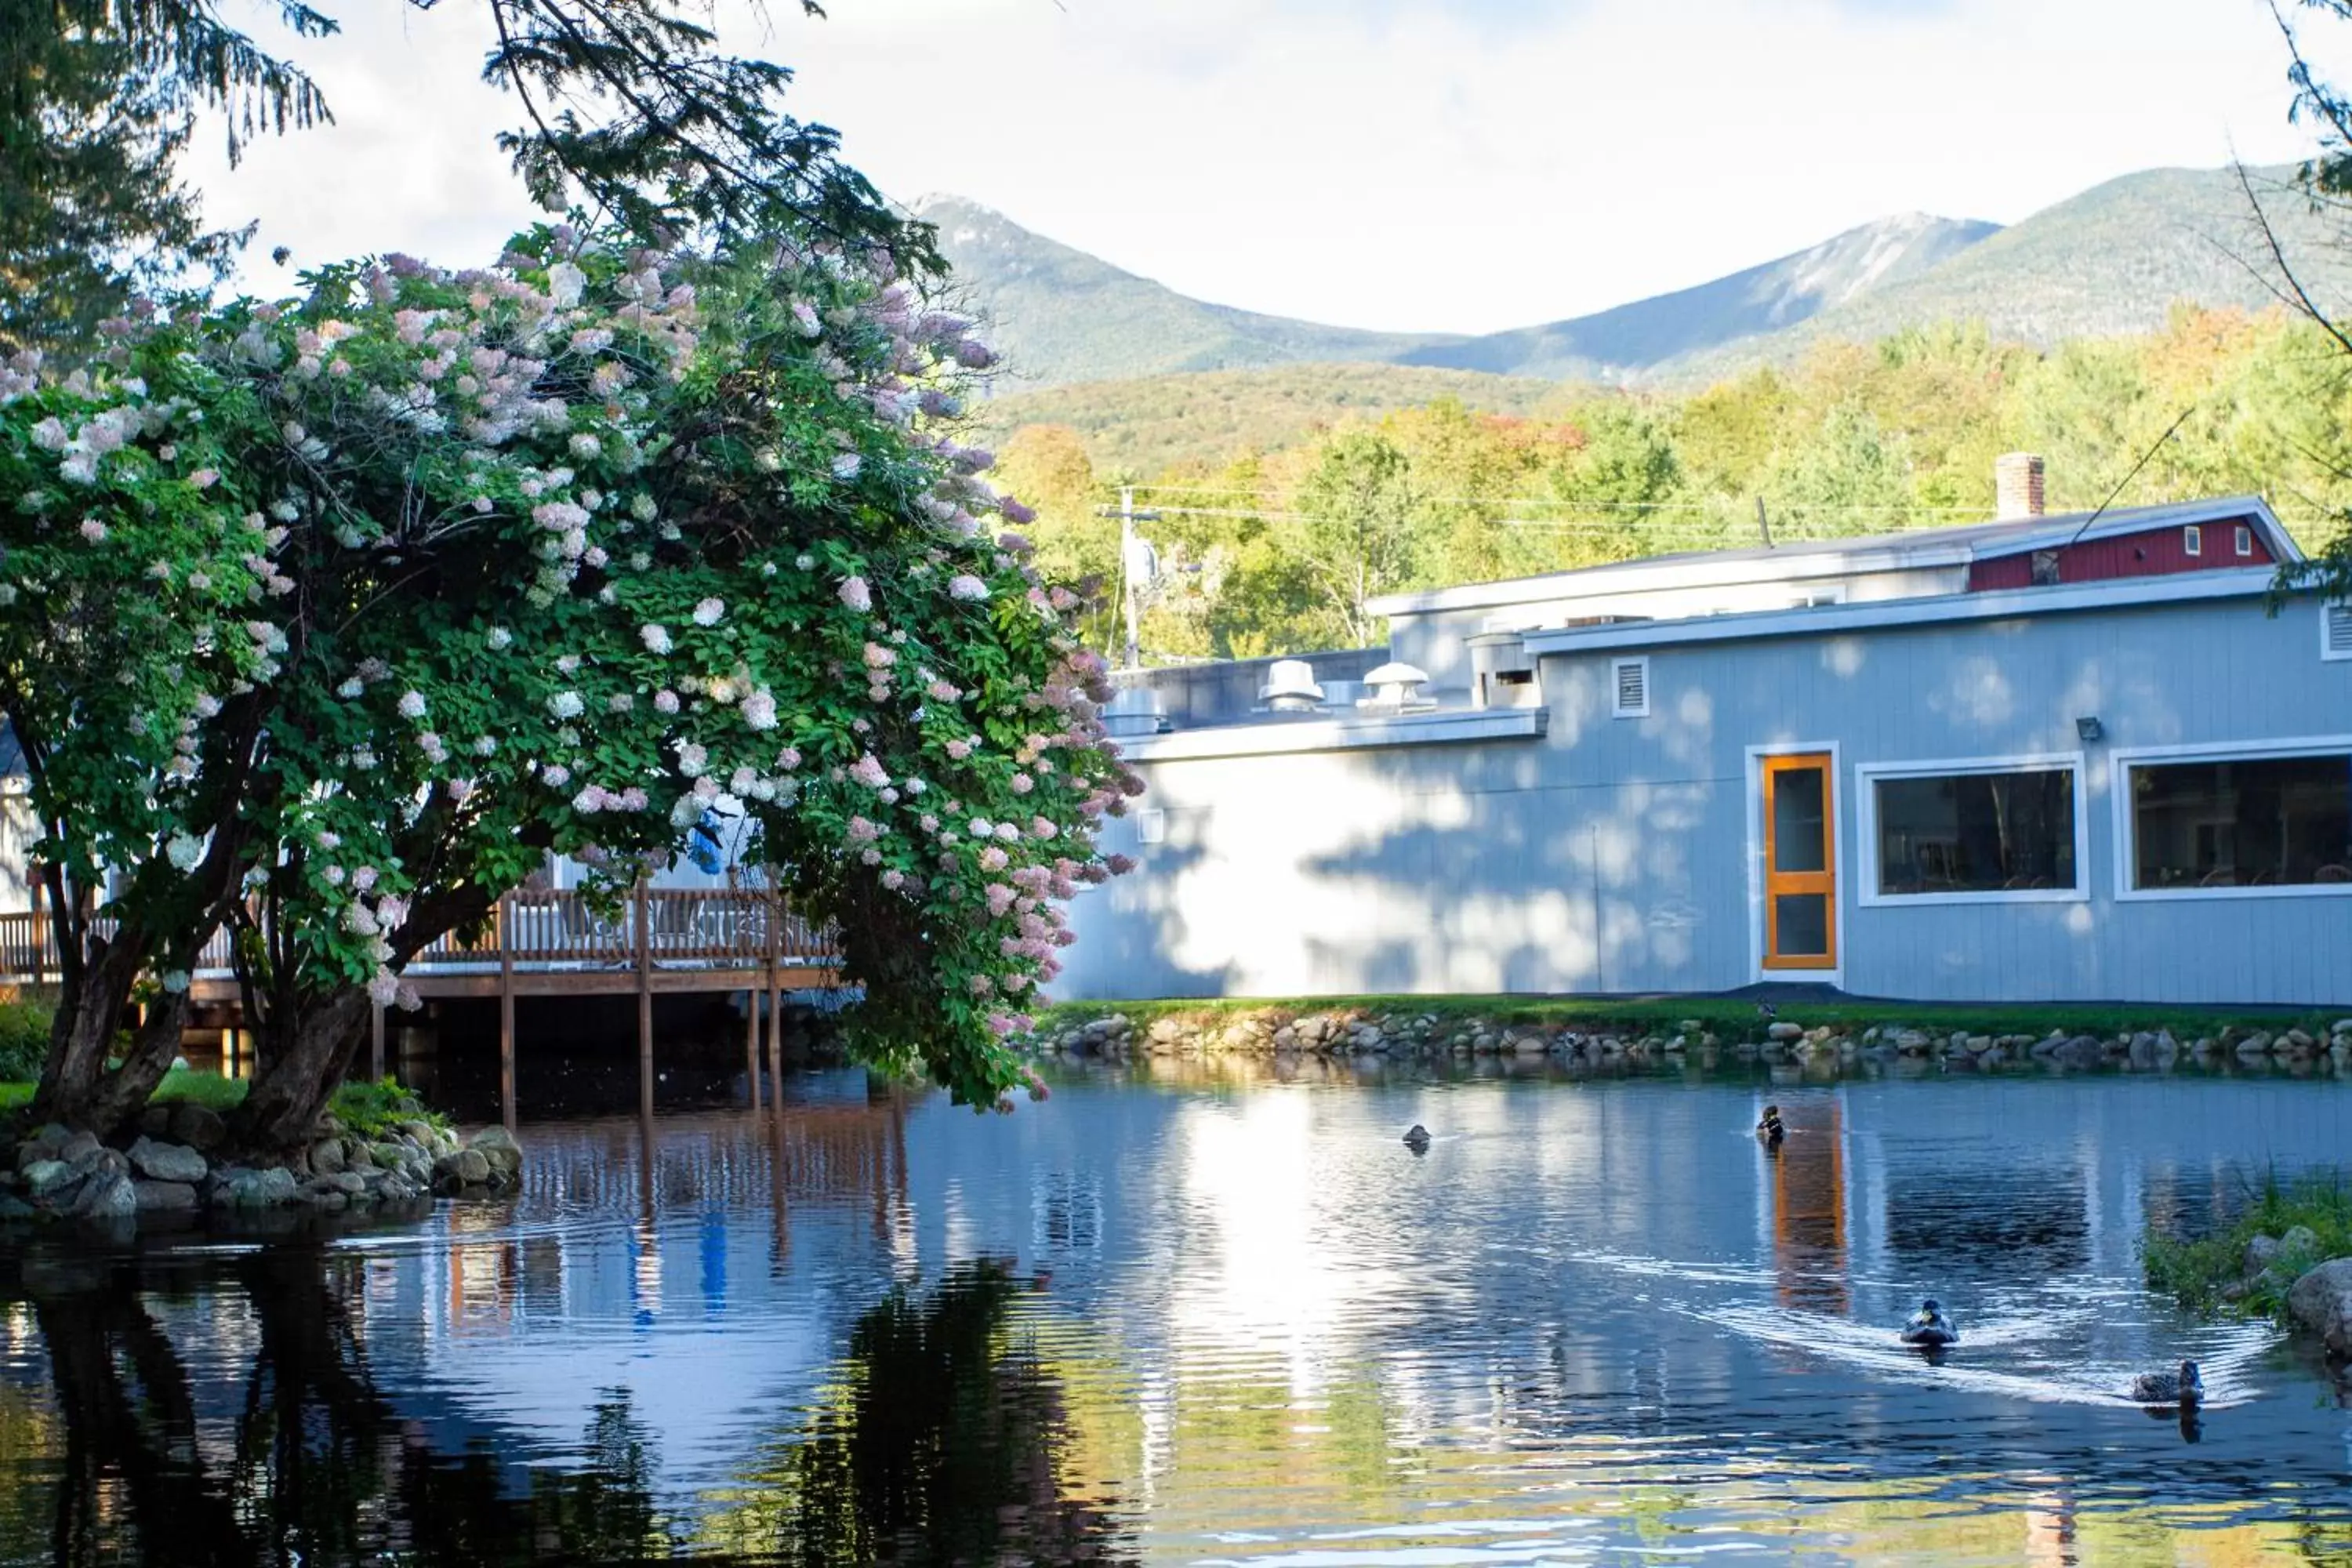
[[[1143,677],[1054,994],[2352,1004],[2352,607],[2258,498],[2004,512],[1397,595],[1371,696]]]

